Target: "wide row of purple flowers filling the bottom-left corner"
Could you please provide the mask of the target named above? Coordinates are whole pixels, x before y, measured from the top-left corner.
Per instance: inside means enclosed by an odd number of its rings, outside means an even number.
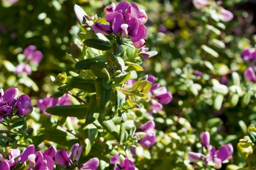
[[[0,169],[12,170],[18,162],[29,167],[28,170],[53,170],[54,165],[61,165],[62,167],[73,166],[80,158],[82,146],[74,144],[67,153],[64,148],[57,152],[56,147],[51,146],[45,152],[35,151],[35,146],[29,145],[22,153],[20,149],[12,149],[9,151],[9,160],[3,158],[0,154]],[[99,166],[99,159],[92,158],[86,163],[80,165],[77,170],[96,170]]]

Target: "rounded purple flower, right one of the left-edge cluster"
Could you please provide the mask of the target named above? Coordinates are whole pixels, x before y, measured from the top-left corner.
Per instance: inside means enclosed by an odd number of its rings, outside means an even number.
[[[28,95],[23,94],[17,99],[17,115],[25,116],[32,113],[33,106]]]

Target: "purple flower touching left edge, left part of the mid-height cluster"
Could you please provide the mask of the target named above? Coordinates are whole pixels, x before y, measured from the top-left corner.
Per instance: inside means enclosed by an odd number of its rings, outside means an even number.
[[[0,116],[8,116],[17,100],[19,91],[17,88],[9,88],[5,92],[0,89]]]

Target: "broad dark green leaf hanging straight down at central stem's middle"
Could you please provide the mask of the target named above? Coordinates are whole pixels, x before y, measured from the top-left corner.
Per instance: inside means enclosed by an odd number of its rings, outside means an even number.
[[[102,84],[103,79],[97,78],[95,80],[95,86],[96,86],[96,99],[97,99],[97,105],[100,109],[100,111],[107,108],[111,97],[112,97],[112,88],[111,89],[105,89]]]

